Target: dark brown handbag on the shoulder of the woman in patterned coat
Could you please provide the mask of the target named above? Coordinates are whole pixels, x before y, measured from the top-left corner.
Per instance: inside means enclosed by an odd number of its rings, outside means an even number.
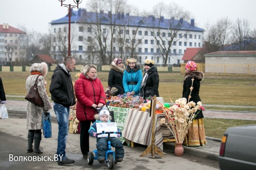
[[[43,107],[44,102],[42,98],[40,97],[38,90],[37,90],[37,79],[40,75],[36,77],[34,86],[31,86],[29,93],[25,96],[25,100],[33,103],[36,106]]]

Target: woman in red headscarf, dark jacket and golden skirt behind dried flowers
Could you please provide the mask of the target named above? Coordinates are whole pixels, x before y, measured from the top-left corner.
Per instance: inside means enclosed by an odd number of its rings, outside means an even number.
[[[185,79],[183,84],[182,97],[185,97],[188,102],[193,101],[195,103],[201,101],[199,96],[200,90],[200,81],[203,80],[203,72],[197,71],[197,64],[193,61],[188,61],[186,66]],[[192,81],[194,79],[194,81]],[[193,82],[193,86],[192,86]],[[190,94],[190,88],[193,87],[193,90]],[[204,146],[207,144],[206,135],[204,134],[204,125],[203,125],[203,114],[202,110],[198,111],[197,116],[193,120],[193,123],[190,124],[188,133],[186,134],[184,144],[187,146]]]

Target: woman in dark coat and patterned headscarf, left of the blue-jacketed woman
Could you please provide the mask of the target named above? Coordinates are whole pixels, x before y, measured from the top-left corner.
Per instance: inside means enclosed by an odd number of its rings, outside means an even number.
[[[123,94],[123,72],[125,66],[122,59],[114,59],[110,64],[110,72],[108,75],[108,86],[111,95]]]

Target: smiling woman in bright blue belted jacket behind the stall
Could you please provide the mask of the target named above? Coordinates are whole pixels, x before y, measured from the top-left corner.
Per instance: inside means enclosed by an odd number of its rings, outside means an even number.
[[[126,60],[126,69],[123,73],[123,88],[124,93],[131,95],[138,95],[140,84],[142,84],[142,70],[136,64],[137,60],[134,58]]]

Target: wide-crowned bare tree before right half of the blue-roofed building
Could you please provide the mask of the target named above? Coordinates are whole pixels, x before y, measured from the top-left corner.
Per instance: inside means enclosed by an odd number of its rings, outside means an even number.
[[[189,30],[190,24],[186,21],[189,18],[189,12],[184,11],[176,4],[159,3],[153,8],[153,14],[147,21],[147,25],[150,34],[156,40],[157,52],[161,54],[164,60],[163,66],[167,66],[174,41],[183,38]],[[167,16],[167,19],[164,19],[164,16]],[[163,27],[166,27],[166,32],[162,32]]]

